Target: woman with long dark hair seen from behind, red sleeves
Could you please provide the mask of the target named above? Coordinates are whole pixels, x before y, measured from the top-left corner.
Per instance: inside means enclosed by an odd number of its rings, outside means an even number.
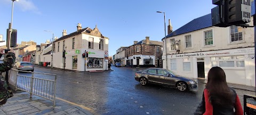
[[[228,87],[225,72],[220,67],[213,67],[208,72],[203,99],[194,114],[243,114],[238,95]]]

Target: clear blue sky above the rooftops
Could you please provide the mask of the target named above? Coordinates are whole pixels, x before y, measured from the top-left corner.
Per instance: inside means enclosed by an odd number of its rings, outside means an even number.
[[[11,22],[11,0],[0,0],[0,34],[6,39],[6,29]],[[211,0],[109,0],[109,1],[60,1],[60,0],[19,0],[14,3],[13,28],[18,30],[18,43],[34,40],[45,43],[52,35],[43,30],[62,36],[76,31],[77,23],[82,27],[94,28],[97,24],[103,36],[109,40],[109,55],[114,55],[120,46],[130,46],[134,40],[158,40],[164,37],[164,15],[166,29],[171,19],[173,30],[189,21],[211,13]],[[166,31],[167,32],[167,31]]]

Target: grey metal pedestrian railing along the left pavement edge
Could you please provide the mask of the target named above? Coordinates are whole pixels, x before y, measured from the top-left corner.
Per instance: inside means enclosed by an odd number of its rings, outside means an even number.
[[[9,84],[32,94],[53,101],[55,106],[57,75],[49,73],[28,72],[11,69],[9,73]]]

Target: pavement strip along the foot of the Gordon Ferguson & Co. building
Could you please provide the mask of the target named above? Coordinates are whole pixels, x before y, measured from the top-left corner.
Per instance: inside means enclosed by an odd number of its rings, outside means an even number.
[[[197,79],[198,83],[206,84],[207,80],[205,79]],[[253,86],[246,86],[246,85],[240,85],[240,84],[231,84],[228,83],[229,87],[235,88],[235,89],[240,89],[244,91],[250,91],[250,92],[255,92],[255,87]]]

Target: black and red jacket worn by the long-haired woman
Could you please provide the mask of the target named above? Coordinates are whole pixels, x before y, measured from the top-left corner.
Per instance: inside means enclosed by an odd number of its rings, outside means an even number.
[[[218,115],[221,115],[221,114],[225,114],[225,115],[233,115],[235,114],[234,112],[234,107],[235,107],[235,101],[236,101],[236,91],[233,89],[233,88],[230,88],[230,91],[232,93],[232,97],[231,97],[231,100],[232,102],[234,103],[233,105],[228,105],[228,106],[220,106],[220,105],[214,105],[212,104],[213,106],[213,114],[218,114]],[[203,93],[203,98],[202,98],[202,101],[201,103],[199,103],[197,109],[196,109],[196,112],[194,113],[195,115],[201,115],[205,112],[205,99],[204,99],[204,93]]]

